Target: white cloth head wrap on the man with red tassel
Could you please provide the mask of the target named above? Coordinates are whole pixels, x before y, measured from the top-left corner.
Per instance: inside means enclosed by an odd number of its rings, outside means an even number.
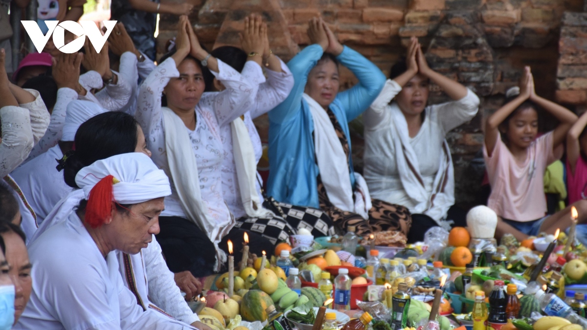
[[[81,189],[71,191],[50,211],[30,243],[45,230],[65,221],[82,199],[89,197],[92,188],[104,177],[112,175],[114,200],[119,204],[138,204],[171,194],[169,179],[163,170],[143,153],[124,153],[98,160],[80,170],[75,181]]]

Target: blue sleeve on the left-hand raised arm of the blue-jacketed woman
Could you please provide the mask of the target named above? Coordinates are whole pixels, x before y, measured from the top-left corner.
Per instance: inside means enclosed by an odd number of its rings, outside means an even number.
[[[310,45],[289,60],[288,68],[294,76],[294,88],[284,102],[269,111],[269,120],[271,122],[283,123],[299,111],[303,89],[308,81],[308,74],[316,66],[323,53],[324,51],[320,45]]]

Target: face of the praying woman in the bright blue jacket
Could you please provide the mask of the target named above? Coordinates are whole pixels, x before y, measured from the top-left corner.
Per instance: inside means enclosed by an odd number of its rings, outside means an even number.
[[[338,68],[332,60],[325,59],[310,71],[304,93],[326,109],[335,99],[339,87]]]

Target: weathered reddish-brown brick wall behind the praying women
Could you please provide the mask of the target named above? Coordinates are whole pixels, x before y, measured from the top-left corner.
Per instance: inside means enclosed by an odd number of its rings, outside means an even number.
[[[165,2],[165,0],[162,0]],[[182,0],[167,0],[182,1]],[[483,177],[478,161],[484,117],[501,106],[525,65],[532,67],[540,95],[578,105],[587,101],[587,16],[582,0],[192,0],[190,19],[209,48],[238,45],[242,18],[262,12],[274,52],[287,60],[307,45],[308,20],[321,15],[341,42],[383,72],[405,53],[410,36],[424,45],[431,68],[470,87],[481,98],[478,115],[448,134],[456,173],[457,203],[471,206]],[[563,19],[565,17],[565,19]],[[177,19],[162,16],[158,50],[174,35]],[[561,22],[564,22],[561,32]],[[559,37],[560,35],[560,37]],[[561,45],[561,63],[558,63]],[[567,50],[564,50],[567,49]],[[581,55],[581,56],[576,56]],[[569,67],[569,65],[573,65]],[[356,79],[342,70],[342,85]],[[431,102],[446,95],[432,86]],[[265,136],[266,118],[257,121]],[[353,122],[353,157],[362,167],[362,124]],[[477,157],[475,159],[475,157]]]

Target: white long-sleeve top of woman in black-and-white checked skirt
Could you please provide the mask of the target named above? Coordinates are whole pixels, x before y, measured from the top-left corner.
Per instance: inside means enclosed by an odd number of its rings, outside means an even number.
[[[281,59],[280,59],[281,61]],[[252,69],[251,69],[252,68]],[[294,76],[289,70],[288,66],[281,61],[282,72],[275,72],[272,70],[265,70],[267,78],[259,76],[258,70],[254,70],[253,66],[242,69],[241,75],[249,79],[251,83],[259,84],[257,95],[255,96],[255,103],[252,109],[245,113],[244,122],[247,126],[249,137],[253,149],[255,151],[255,161],[258,163],[263,154],[263,147],[261,145],[261,138],[257,132],[257,128],[253,123],[253,119],[264,115],[269,110],[273,109],[279,103],[283,102],[288,97],[294,87]],[[232,150],[232,133],[230,125],[222,126],[220,129],[222,144],[224,145],[224,161],[222,161],[222,193],[228,208],[235,218],[244,217],[247,215],[242,206],[241,191],[238,186],[237,168],[234,162],[234,154]],[[257,193],[259,199],[263,200],[261,194],[261,186],[259,181],[261,178],[257,175]]]

